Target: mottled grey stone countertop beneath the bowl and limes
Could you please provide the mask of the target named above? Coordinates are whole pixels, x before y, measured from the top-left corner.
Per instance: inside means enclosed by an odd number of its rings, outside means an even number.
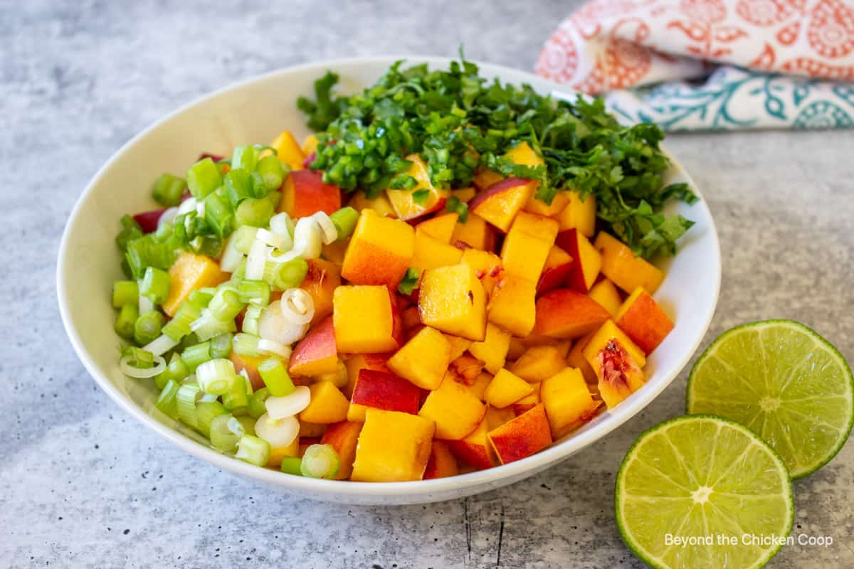
[[[74,355],[56,251],[97,168],[164,113],[319,58],[455,55],[533,67],[573,2],[0,0],[0,566],[636,567],[613,515],[617,467],[683,411],[686,374],[626,425],[532,479],[464,500],[362,508],[297,500],[220,472],[119,409]],[[720,232],[705,339],[791,317],[854,357],[854,132],[671,136]],[[854,566],[854,444],[795,483],[774,567]]]

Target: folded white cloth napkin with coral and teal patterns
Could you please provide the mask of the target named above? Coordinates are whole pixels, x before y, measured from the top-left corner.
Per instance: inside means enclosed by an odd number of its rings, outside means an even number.
[[[536,73],[669,131],[854,126],[854,2],[592,0]]]

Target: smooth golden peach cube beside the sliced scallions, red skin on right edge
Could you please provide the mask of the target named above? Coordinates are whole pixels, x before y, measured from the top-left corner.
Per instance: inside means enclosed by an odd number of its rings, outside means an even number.
[[[400,315],[388,288],[337,287],[332,305],[338,351],[382,353],[401,345]]]

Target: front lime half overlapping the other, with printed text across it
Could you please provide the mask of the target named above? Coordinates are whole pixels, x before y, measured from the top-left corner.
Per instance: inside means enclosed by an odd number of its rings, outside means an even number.
[[[745,427],[686,415],[640,435],[617,474],[617,525],[648,566],[761,567],[792,530],[786,465]]]

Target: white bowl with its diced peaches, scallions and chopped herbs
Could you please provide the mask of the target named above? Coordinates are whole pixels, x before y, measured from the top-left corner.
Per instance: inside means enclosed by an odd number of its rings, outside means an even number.
[[[349,503],[510,484],[642,409],[711,321],[717,235],[662,137],[505,67],[271,73],[97,173],[63,322],[117,403],[229,472]]]

